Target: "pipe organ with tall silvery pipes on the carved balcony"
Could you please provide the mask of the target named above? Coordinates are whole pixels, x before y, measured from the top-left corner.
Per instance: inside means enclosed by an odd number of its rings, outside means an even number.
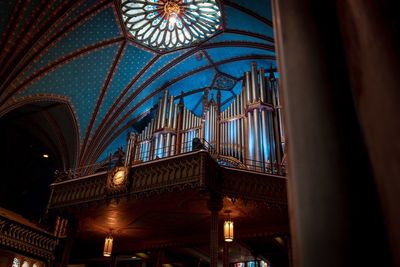
[[[223,112],[219,91],[217,100],[208,101],[205,90],[201,117],[184,107],[183,93],[176,100],[165,91],[156,116],[136,137],[131,135],[131,164],[190,152],[197,137],[217,151],[221,164],[282,173],[284,127],[272,68],[266,74],[252,63],[251,71],[244,73],[241,93]]]

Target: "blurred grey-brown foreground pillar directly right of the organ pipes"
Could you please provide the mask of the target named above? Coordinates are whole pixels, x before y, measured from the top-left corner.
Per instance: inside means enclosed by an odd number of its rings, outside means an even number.
[[[291,140],[288,199],[294,266],[391,266],[336,5],[333,0],[273,0]]]

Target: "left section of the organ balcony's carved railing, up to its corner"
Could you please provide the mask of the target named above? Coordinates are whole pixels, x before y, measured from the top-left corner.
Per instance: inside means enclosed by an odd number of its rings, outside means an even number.
[[[126,195],[144,197],[154,193],[215,188],[218,184],[217,163],[203,150],[163,158],[129,168],[126,184],[109,188],[107,172],[53,183],[49,208],[73,206],[109,200]]]

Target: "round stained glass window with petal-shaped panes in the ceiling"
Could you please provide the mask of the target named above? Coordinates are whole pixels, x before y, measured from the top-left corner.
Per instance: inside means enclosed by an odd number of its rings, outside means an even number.
[[[122,0],[126,29],[139,42],[169,50],[204,40],[220,28],[216,0]]]

